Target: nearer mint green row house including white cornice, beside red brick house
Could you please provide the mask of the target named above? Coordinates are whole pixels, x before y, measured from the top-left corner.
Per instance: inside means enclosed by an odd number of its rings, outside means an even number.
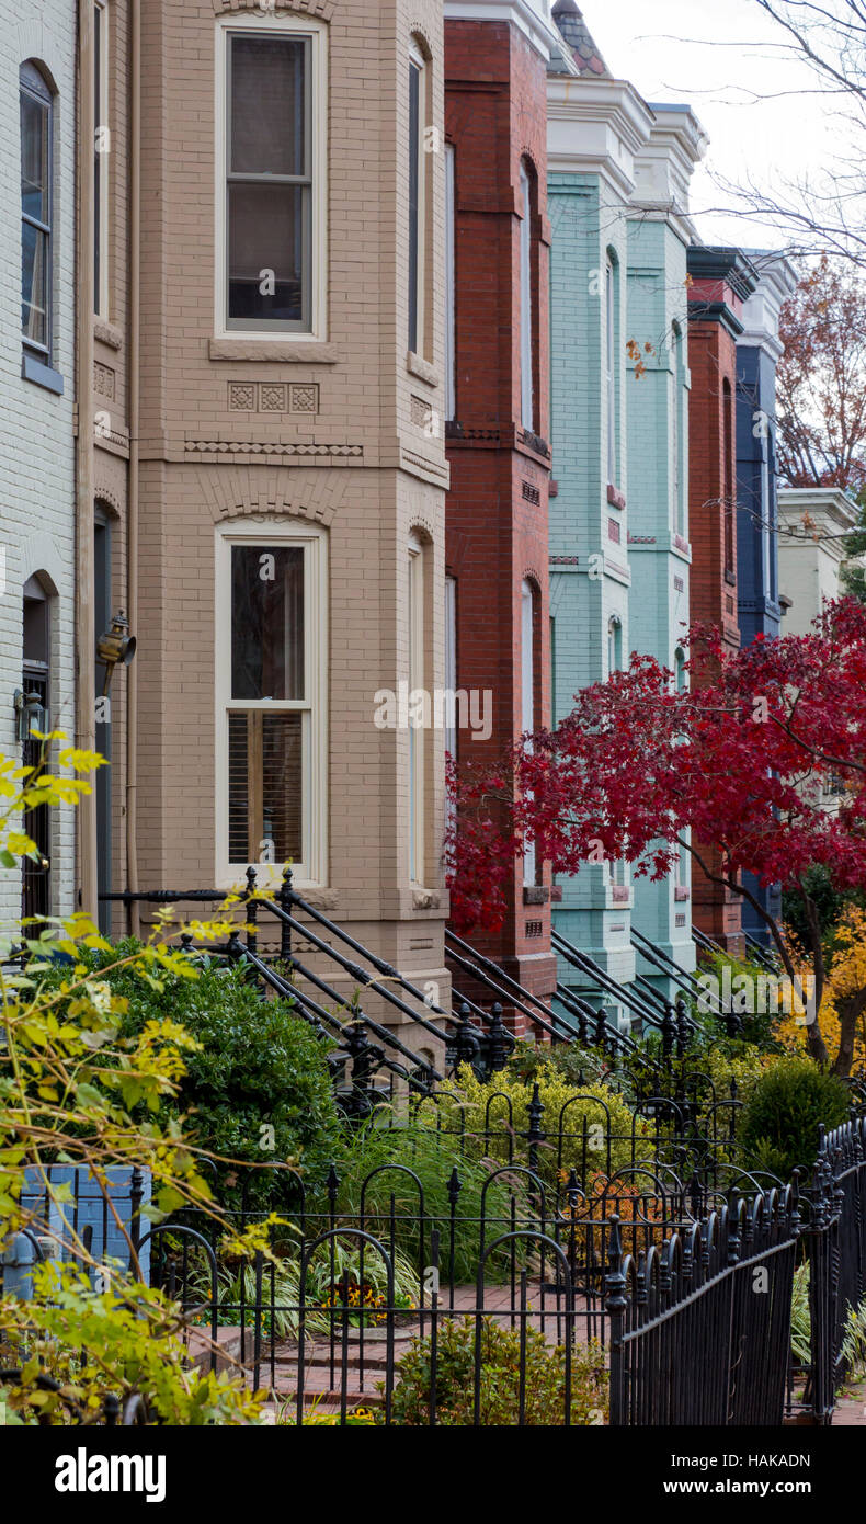
[[[614,79],[575,5],[553,18],[563,47],[547,82],[547,194],[553,232],[550,503],[553,719],[578,689],[628,664],[633,485],[627,422],[628,218],[636,155],[653,113]],[[634,978],[633,890],[625,863],[585,864],[556,884],[555,928],[613,980]],[[560,959],[566,988],[592,978]]]

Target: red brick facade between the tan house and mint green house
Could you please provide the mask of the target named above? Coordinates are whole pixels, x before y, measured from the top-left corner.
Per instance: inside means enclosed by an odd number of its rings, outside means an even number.
[[[494,759],[521,733],[521,584],[534,588],[534,719],[550,716],[546,66],[508,21],[445,21],[445,134],[454,146],[456,405],[445,559],[456,579],[457,686],[492,690]],[[534,427],[521,424],[521,160],[532,190]],[[550,878],[515,866],[505,927],[473,940],[538,995],[555,986]],[[532,901],[543,899],[543,904]],[[528,902],[529,901],[529,902]]]

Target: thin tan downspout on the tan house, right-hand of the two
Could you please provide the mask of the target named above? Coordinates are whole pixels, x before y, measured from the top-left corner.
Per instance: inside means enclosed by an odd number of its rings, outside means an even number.
[[[142,6],[130,3],[130,494],[127,504],[127,596],[130,629],[139,628],[139,434],[140,434],[140,338],[142,338]],[[139,890],[139,663],[127,668],[127,888]],[[139,905],[128,907],[128,928],[139,936]]]

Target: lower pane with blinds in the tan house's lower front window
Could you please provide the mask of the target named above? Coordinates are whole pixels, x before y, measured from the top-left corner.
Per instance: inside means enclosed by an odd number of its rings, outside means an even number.
[[[229,715],[229,860],[299,863],[302,841],[302,716],[253,710]]]

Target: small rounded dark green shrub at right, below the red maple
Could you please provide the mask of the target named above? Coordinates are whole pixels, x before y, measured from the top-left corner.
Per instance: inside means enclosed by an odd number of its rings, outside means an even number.
[[[848,1087],[810,1058],[785,1058],[758,1079],[743,1113],[744,1163],[788,1181],[816,1161],[819,1125],[848,1119]]]

